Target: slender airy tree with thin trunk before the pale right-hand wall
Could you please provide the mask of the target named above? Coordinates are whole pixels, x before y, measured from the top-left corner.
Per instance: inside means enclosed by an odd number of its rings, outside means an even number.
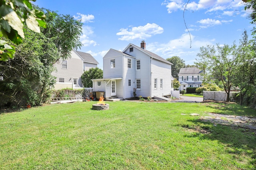
[[[230,89],[239,64],[237,55],[235,43],[232,46],[224,45],[223,47],[217,44],[216,48],[214,45],[200,47],[200,53],[197,54],[199,58],[196,59],[196,64],[200,69],[205,70],[205,74],[215,75],[214,79],[217,78],[222,82],[227,94],[226,102],[229,102]]]

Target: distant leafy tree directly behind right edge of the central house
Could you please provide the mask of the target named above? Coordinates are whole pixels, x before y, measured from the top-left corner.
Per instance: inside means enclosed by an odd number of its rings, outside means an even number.
[[[185,61],[178,56],[174,56],[174,57],[168,58],[166,60],[173,64],[172,65],[172,76],[174,78],[178,78],[180,68],[184,68],[186,66]]]

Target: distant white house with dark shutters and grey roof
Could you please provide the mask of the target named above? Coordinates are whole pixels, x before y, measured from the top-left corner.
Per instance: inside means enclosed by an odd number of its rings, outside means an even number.
[[[188,87],[202,87],[203,76],[201,73],[203,70],[200,70],[196,67],[180,68],[179,90],[186,90]]]

